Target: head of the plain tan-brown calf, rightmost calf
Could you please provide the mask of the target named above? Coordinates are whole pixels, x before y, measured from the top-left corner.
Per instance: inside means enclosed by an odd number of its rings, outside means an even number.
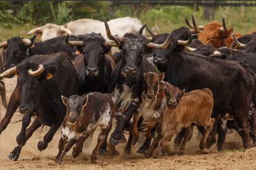
[[[164,86],[164,94],[166,95],[167,107],[171,109],[176,108],[184,93],[185,89],[181,91],[178,87],[166,83],[166,86]]]

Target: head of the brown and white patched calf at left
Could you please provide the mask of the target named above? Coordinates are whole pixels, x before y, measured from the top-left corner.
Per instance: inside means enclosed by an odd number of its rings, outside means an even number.
[[[79,120],[82,115],[83,108],[86,107],[88,102],[88,95],[79,96],[79,95],[71,95],[69,99],[61,95],[62,103],[67,107],[67,117],[70,123],[75,123]]]

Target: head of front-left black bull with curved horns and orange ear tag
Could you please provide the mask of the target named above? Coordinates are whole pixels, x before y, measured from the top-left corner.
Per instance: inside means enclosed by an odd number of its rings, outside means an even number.
[[[40,99],[46,91],[46,84],[58,71],[56,65],[41,65],[28,60],[4,71],[0,78],[8,77],[16,73],[17,87],[20,92],[20,113],[33,113],[40,103]]]

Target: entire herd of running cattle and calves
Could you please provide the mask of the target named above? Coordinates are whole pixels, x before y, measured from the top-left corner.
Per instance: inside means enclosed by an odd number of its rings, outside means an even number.
[[[38,142],[40,151],[62,126],[56,163],[74,145],[72,156],[79,156],[96,127],[101,131],[93,163],[107,146],[111,155],[119,154],[115,147],[126,140],[124,131],[129,131],[124,153],[129,155],[131,145],[144,135],[137,152],[146,158],[172,154],[168,141],[175,134],[174,152],[184,153],[195,125],[203,135],[201,152],[216,142],[222,150],[228,129],[239,133],[244,148],[250,147],[250,138],[255,145],[256,32],[233,34],[224,18],[222,24],[197,25],[192,15],[192,23],[187,18],[186,23],[188,28],[156,34],[137,18],[81,19],[60,26],[48,23],[29,31],[34,34],[30,39],[16,36],[1,42],[0,79],[17,76],[17,85],[7,104],[0,81],[7,108],[0,134],[18,107],[23,114],[9,158],[16,161],[33,132],[44,125],[50,128]]]

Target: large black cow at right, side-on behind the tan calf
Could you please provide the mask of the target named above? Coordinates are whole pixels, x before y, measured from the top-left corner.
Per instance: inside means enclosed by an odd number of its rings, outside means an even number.
[[[152,42],[161,44],[165,38],[166,35],[160,34],[153,37]],[[249,68],[236,62],[186,52],[175,38],[166,49],[153,50],[153,54],[155,65],[166,73],[165,81],[187,92],[211,89],[215,102],[213,118],[231,113],[241,129],[239,134],[243,146],[248,147],[247,118],[252,98],[255,99],[255,77]],[[221,150],[226,132],[218,131],[218,134],[218,150]]]

